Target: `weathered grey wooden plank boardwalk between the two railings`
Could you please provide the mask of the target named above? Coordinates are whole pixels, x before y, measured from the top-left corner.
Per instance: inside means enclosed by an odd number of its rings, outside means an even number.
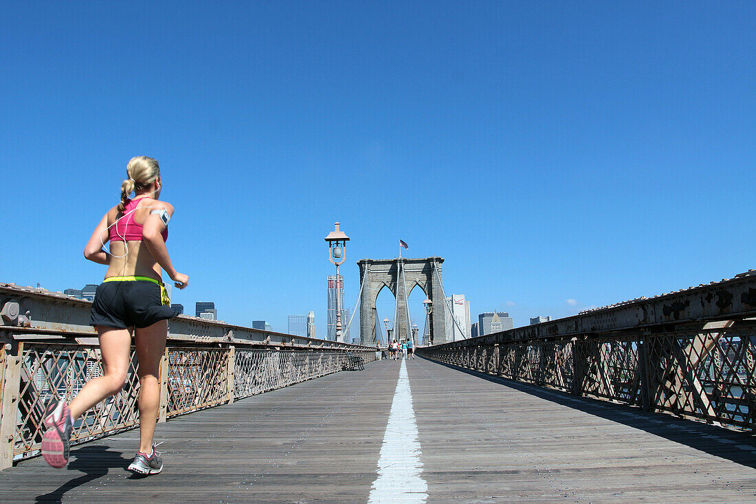
[[[423,359],[406,370],[426,490],[373,502],[756,502],[746,434]],[[0,502],[368,502],[399,374],[373,362],[158,425],[150,478],[125,471],[138,431],[75,446],[65,470],[21,462],[0,471]]]

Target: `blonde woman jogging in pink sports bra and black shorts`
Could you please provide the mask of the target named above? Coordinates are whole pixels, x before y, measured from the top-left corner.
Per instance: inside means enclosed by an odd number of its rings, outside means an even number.
[[[121,202],[108,210],[92,233],[84,257],[107,265],[104,282],[92,303],[90,325],[100,340],[103,375],[88,381],[70,404],[48,404],[42,456],[53,467],[68,463],[73,423],[106,397],[117,394],[129,372],[132,336],[139,361],[140,445],[129,471],[156,474],[163,470],[154,450],[153,434],[160,406],[160,358],[166,348],[168,319],[173,310],[161,280],[163,270],[175,286],[189,277],[175,270],[166,249],[173,206],[160,201],[160,166],[150,157],[132,157],[128,179],[121,184]],[[132,192],[134,198],[130,198]],[[110,250],[104,250],[110,241]]]

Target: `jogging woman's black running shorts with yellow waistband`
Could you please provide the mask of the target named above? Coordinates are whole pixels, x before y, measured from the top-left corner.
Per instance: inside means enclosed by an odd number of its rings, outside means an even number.
[[[95,293],[89,325],[141,329],[173,316],[170,304],[161,304],[160,285],[154,282],[103,282]]]

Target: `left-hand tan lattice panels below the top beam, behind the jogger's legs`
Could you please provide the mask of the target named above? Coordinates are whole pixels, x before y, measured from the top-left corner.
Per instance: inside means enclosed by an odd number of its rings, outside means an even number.
[[[102,366],[101,352],[95,344],[23,342],[15,355],[8,351],[10,347],[8,344],[0,348],[0,428],[5,436],[2,456],[18,460],[39,453],[45,403],[72,400],[87,381],[101,375]],[[359,353],[364,362],[375,360],[374,349],[355,349],[352,353]],[[169,342],[161,362],[160,421],[341,371],[347,367],[348,356],[344,350],[261,349],[241,342],[215,347]],[[72,443],[138,425],[138,392],[138,362],[132,348],[131,366],[122,390],[76,421]],[[12,432],[8,433],[11,424]]]

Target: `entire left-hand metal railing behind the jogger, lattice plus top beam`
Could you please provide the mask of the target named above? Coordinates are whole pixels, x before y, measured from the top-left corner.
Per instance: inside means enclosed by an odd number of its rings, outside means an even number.
[[[3,294],[12,297],[4,299]],[[0,325],[0,469],[39,453],[48,400],[70,401],[87,381],[102,373],[93,329],[76,322],[90,303],[0,285],[0,303],[11,302],[20,304],[21,313],[31,305],[47,316],[32,319],[26,326]],[[2,322],[8,322],[8,317]],[[350,354],[361,356],[364,362],[375,360],[373,347],[194,317],[181,316],[169,324],[160,363],[160,422],[347,369]],[[138,392],[138,361],[132,347],[122,390],[76,421],[72,443],[138,425]]]

